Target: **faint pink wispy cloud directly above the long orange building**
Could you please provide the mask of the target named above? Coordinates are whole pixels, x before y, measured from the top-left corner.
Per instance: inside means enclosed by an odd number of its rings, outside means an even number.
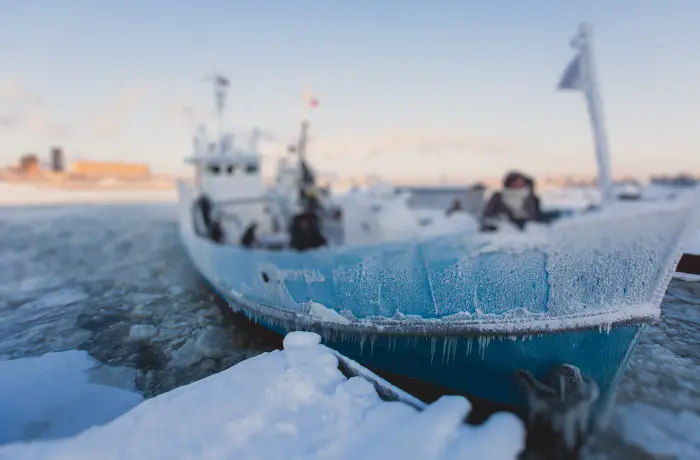
[[[118,94],[89,118],[89,126],[97,137],[114,137],[122,133],[140,108],[146,96],[142,86],[132,86]]]

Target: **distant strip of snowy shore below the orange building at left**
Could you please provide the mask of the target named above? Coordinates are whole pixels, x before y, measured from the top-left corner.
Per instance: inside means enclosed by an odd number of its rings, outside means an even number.
[[[174,203],[176,200],[175,190],[64,190],[0,182],[0,206],[70,203]]]

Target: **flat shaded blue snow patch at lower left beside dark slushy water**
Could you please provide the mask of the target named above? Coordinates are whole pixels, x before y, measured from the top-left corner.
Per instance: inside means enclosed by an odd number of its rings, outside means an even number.
[[[0,361],[0,444],[74,436],[113,420],[143,400],[114,387],[127,384],[123,377],[85,351]]]

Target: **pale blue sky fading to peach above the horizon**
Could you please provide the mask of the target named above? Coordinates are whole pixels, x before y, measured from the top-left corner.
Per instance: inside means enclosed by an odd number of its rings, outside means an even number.
[[[270,162],[311,112],[340,176],[594,174],[580,93],[556,90],[590,22],[615,175],[700,173],[697,0],[0,0],[0,163],[26,152],[183,174],[204,76]]]

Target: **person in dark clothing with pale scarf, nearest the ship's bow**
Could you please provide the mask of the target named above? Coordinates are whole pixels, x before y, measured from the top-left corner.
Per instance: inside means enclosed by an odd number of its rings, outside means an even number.
[[[502,220],[523,230],[527,222],[540,221],[540,200],[534,193],[534,180],[520,172],[508,173],[503,188],[494,193],[484,208],[481,231],[498,230]]]

